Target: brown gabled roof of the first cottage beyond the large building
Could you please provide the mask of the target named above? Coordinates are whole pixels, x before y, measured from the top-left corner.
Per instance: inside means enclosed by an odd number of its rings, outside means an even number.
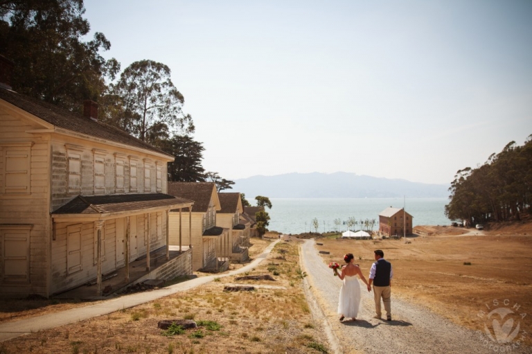
[[[220,200],[213,182],[168,182],[168,194],[194,201],[193,213],[205,213],[213,200],[215,210],[220,210]]]

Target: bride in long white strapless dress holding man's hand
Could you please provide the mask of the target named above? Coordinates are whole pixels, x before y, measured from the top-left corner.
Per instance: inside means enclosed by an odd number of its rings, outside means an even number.
[[[358,308],[360,307],[360,283],[358,282],[357,276],[360,276],[366,284],[366,287],[368,285],[360,267],[353,264],[354,258],[353,254],[346,254],[344,256],[347,265],[342,267],[342,273],[339,274],[339,278],[344,281],[338,300],[340,321],[343,321],[345,317],[351,317],[355,321],[358,315]]]

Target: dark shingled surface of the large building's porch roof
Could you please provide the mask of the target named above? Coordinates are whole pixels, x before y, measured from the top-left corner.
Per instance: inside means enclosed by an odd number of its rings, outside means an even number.
[[[163,193],[120,194],[120,195],[78,195],[73,200],[54,211],[52,215],[118,213],[121,211],[139,211],[162,206],[175,207],[178,204],[193,204],[190,200],[173,197]]]

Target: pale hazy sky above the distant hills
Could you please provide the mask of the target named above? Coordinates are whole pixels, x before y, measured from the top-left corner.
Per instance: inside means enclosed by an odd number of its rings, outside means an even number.
[[[532,1],[86,0],[125,69],[155,60],[227,179],[450,183],[532,134]]]

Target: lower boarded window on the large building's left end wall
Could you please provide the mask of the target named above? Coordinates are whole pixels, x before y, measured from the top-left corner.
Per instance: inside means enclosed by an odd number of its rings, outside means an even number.
[[[3,283],[29,283],[31,227],[32,225],[10,225],[6,229],[0,229],[0,269],[3,271]]]

